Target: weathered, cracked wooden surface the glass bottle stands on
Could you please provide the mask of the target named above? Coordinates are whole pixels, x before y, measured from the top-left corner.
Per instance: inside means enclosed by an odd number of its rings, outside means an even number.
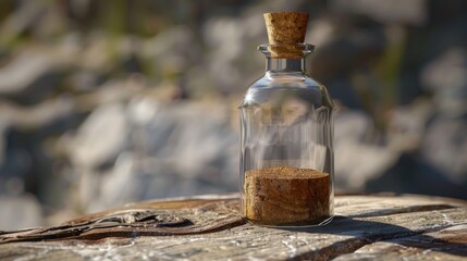
[[[467,203],[337,196],[322,227],[245,224],[232,196],[150,201],[61,226],[0,232],[0,260],[466,260]]]

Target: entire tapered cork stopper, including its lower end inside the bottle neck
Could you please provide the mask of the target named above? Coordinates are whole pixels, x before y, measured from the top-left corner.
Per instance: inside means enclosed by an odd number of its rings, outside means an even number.
[[[308,14],[297,12],[265,13],[271,58],[303,58],[299,44],[304,44]]]

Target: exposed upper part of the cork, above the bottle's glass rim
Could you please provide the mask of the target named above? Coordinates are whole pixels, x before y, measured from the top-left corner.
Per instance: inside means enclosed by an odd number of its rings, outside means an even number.
[[[265,13],[269,44],[303,44],[308,14],[296,12]]]

